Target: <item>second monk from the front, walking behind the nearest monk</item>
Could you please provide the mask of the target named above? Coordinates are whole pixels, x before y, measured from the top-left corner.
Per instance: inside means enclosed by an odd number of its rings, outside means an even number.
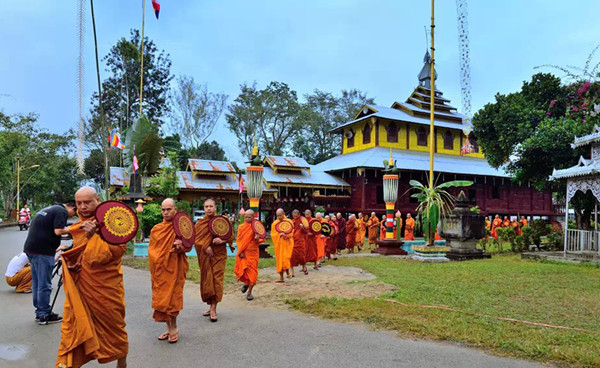
[[[177,316],[183,309],[183,287],[188,271],[186,249],[177,239],[173,229],[173,218],[177,206],[171,198],[161,204],[163,222],[150,231],[148,244],[148,266],[152,279],[152,317],[156,322],[166,322],[167,330],[158,336],[159,340],[178,341]]]

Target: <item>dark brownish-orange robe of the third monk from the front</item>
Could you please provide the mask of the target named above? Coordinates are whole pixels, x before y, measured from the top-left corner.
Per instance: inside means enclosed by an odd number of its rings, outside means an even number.
[[[214,216],[204,216],[196,225],[196,253],[200,266],[200,296],[206,304],[218,303],[223,299],[223,280],[225,279],[225,265],[227,264],[227,244],[214,245],[213,235],[208,231],[208,222]],[[227,243],[233,243],[233,232]],[[213,256],[206,255],[208,247],[213,250]]]

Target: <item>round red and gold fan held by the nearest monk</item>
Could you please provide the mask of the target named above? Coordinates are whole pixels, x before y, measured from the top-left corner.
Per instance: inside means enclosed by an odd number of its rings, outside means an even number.
[[[125,244],[135,237],[139,227],[133,210],[123,202],[106,201],[96,207],[100,237],[112,245]]]

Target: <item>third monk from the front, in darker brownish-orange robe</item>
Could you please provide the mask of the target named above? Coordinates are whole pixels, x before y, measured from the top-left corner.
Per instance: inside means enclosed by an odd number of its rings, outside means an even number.
[[[229,244],[233,252],[233,232],[223,240],[215,237],[208,230],[208,222],[215,217],[217,203],[214,199],[204,201],[206,215],[196,222],[196,253],[200,266],[200,296],[202,301],[210,305],[210,309],[203,313],[210,317],[211,322],[217,322],[217,304],[223,299],[223,280],[225,279],[225,265],[227,264],[227,247]]]

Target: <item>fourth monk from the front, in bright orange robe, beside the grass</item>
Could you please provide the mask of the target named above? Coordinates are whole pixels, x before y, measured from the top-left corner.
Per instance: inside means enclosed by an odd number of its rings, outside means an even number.
[[[258,278],[258,245],[265,241],[252,230],[252,220],[254,220],[254,211],[246,210],[244,212],[244,222],[238,227],[238,235],[235,241],[238,252],[235,257],[233,272],[238,281],[244,284],[242,293],[248,292],[246,300],[254,300],[252,289],[254,289]]]

